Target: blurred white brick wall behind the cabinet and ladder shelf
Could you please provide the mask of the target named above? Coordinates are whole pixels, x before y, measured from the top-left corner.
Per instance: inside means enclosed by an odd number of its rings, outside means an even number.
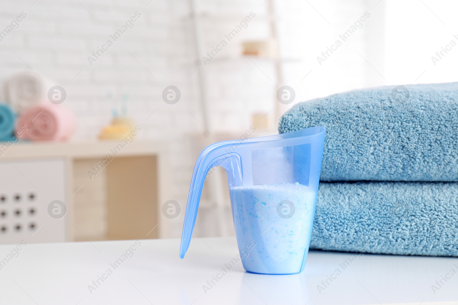
[[[67,91],[65,105],[82,119],[77,120],[76,134],[72,139],[75,141],[95,141],[97,137],[93,131],[99,133],[109,123],[112,108],[127,96],[128,115],[142,126],[139,138],[171,140],[175,198],[170,199],[182,203],[182,219],[185,195],[189,191],[198,153],[190,153],[192,140],[188,135],[203,131],[199,123],[203,122],[198,91],[200,71],[188,80],[197,69],[190,1],[153,0],[146,7],[149,1],[79,0],[80,5],[76,0],[38,0],[33,5],[35,0],[1,0],[0,30],[22,11],[27,17],[19,28],[0,42],[0,81],[30,67],[35,73],[63,86]],[[276,102],[273,61],[253,58],[253,64],[241,54],[241,41],[267,39],[270,35],[267,3],[263,2],[194,0],[198,5],[196,12],[204,44],[199,58],[224,39],[224,34],[234,29],[251,11],[256,13],[249,26],[205,66],[212,133],[230,131],[241,134],[251,125],[251,113],[268,112]],[[333,27],[329,27],[303,1],[275,2],[281,56],[294,59],[284,65],[284,78],[285,84],[296,90],[295,102],[367,85],[365,62],[343,59],[349,54],[354,55],[354,47],[361,47],[364,32],[358,33],[359,36],[345,46],[347,49],[332,59],[334,64],[330,62],[326,67],[316,67],[316,56],[333,42],[339,29],[344,31],[365,11],[365,1],[349,2],[310,0],[333,22]],[[347,6],[351,10],[342,13]],[[87,57],[108,39],[112,40],[109,35],[136,11],[142,16],[135,26],[91,66]],[[360,49],[361,54],[366,51]],[[336,64],[338,61],[343,61],[343,64]],[[312,68],[315,75],[300,81]],[[161,98],[163,89],[169,85],[180,88],[182,96],[178,104],[168,105]],[[156,110],[158,112],[146,122]],[[175,236],[180,236],[181,223],[174,229]]]

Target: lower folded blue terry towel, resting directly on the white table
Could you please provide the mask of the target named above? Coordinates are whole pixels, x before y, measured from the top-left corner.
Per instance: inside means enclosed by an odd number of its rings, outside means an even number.
[[[458,183],[320,182],[311,249],[458,257]]]

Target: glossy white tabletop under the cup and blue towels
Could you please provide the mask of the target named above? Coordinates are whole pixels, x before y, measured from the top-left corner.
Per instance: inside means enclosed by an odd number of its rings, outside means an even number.
[[[114,270],[133,244],[27,244],[0,270],[0,304],[458,304],[458,274],[431,289],[458,272],[458,258],[364,254],[343,270],[351,253],[310,251],[300,274],[252,274],[238,262],[205,294],[202,285],[238,254],[235,238],[194,238],[184,259],[178,239],[142,240]],[[0,246],[0,260],[14,246]],[[108,268],[113,274],[91,294],[88,285]],[[342,274],[320,294],[317,285],[337,268]]]

